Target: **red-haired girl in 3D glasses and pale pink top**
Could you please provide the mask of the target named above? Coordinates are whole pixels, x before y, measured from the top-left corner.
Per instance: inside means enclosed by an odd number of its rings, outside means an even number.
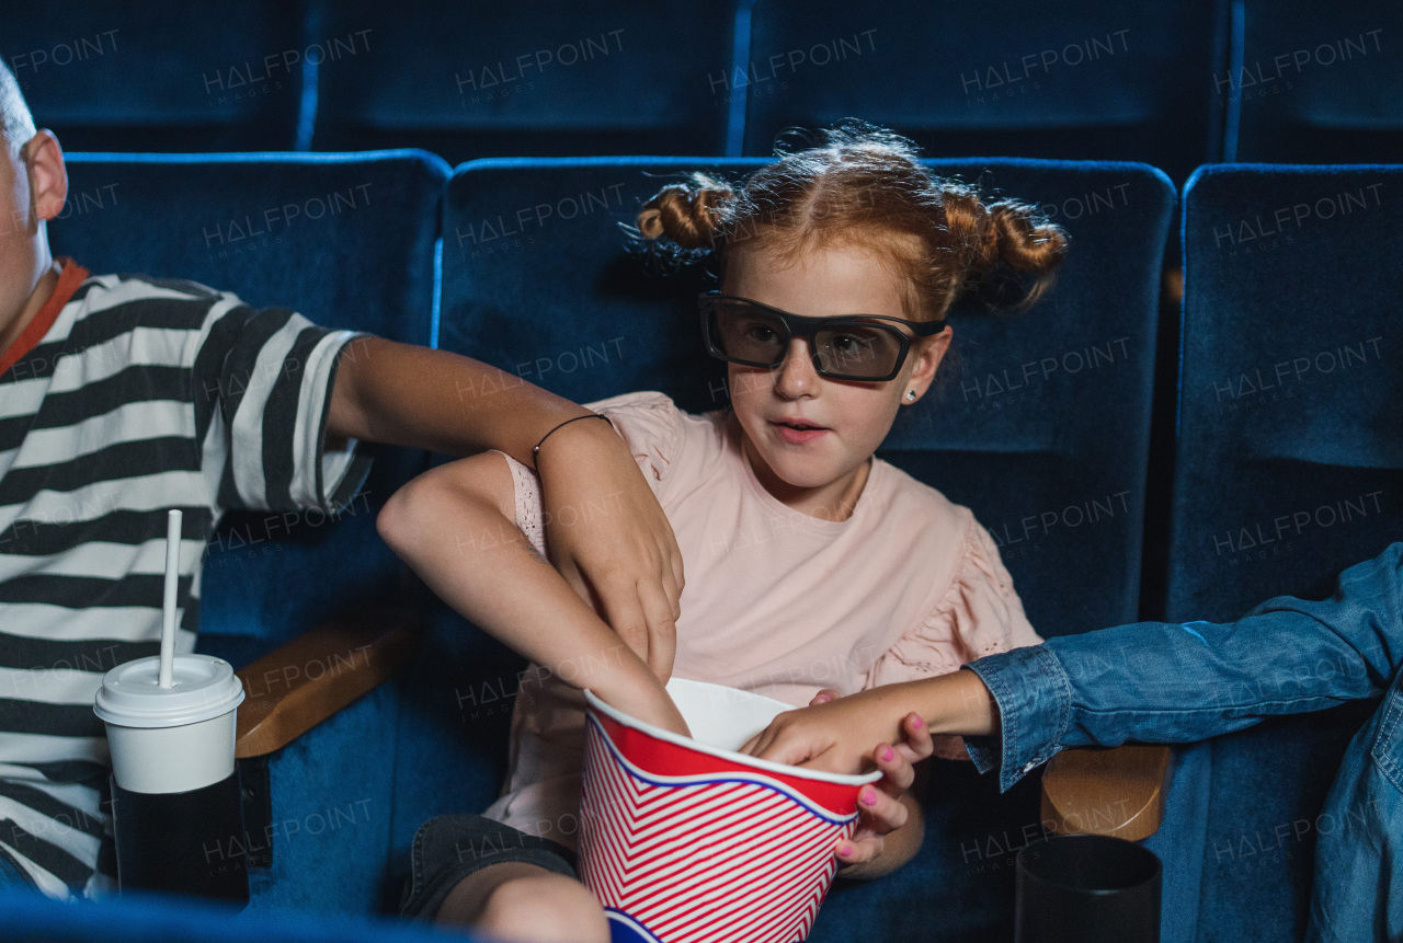
[[[415,838],[407,915],[537,943],[609,937],[575,880],[567,827],[579,804],[582,688],[685,733],[664,689],[672,674],[798,706],[821,689],[947,674],[1041,640],[969,510],[874,451],[929,390],[955,298],[1009,269],[1035,298],[1063,233],[1024,205],[982,203],[932,177],[906,142],[870,129],[831,132],[738,186],[702,175],[665,186],[637,226],[659,251],[714,254],[723,272],[700,307],[707,350],[730,364],[731,409],[687,415],[657,392],[592,404],[676,532],[687,572],[676,633],[622,643],[578,580],[543,565],[536,472],[501,453],[427,472],[389,502],[390,546],[540,667],[518,694],[502,797],[484,817],[435,818]],[[585,425],[553,430],[537,467]],[[965,757],[958,737],[933,741],[916,716],[899,733],[895,747],[873,744],[885,778],[863,789],[859,832],[835,851],[847,874],[915,855],[912,762]]]

